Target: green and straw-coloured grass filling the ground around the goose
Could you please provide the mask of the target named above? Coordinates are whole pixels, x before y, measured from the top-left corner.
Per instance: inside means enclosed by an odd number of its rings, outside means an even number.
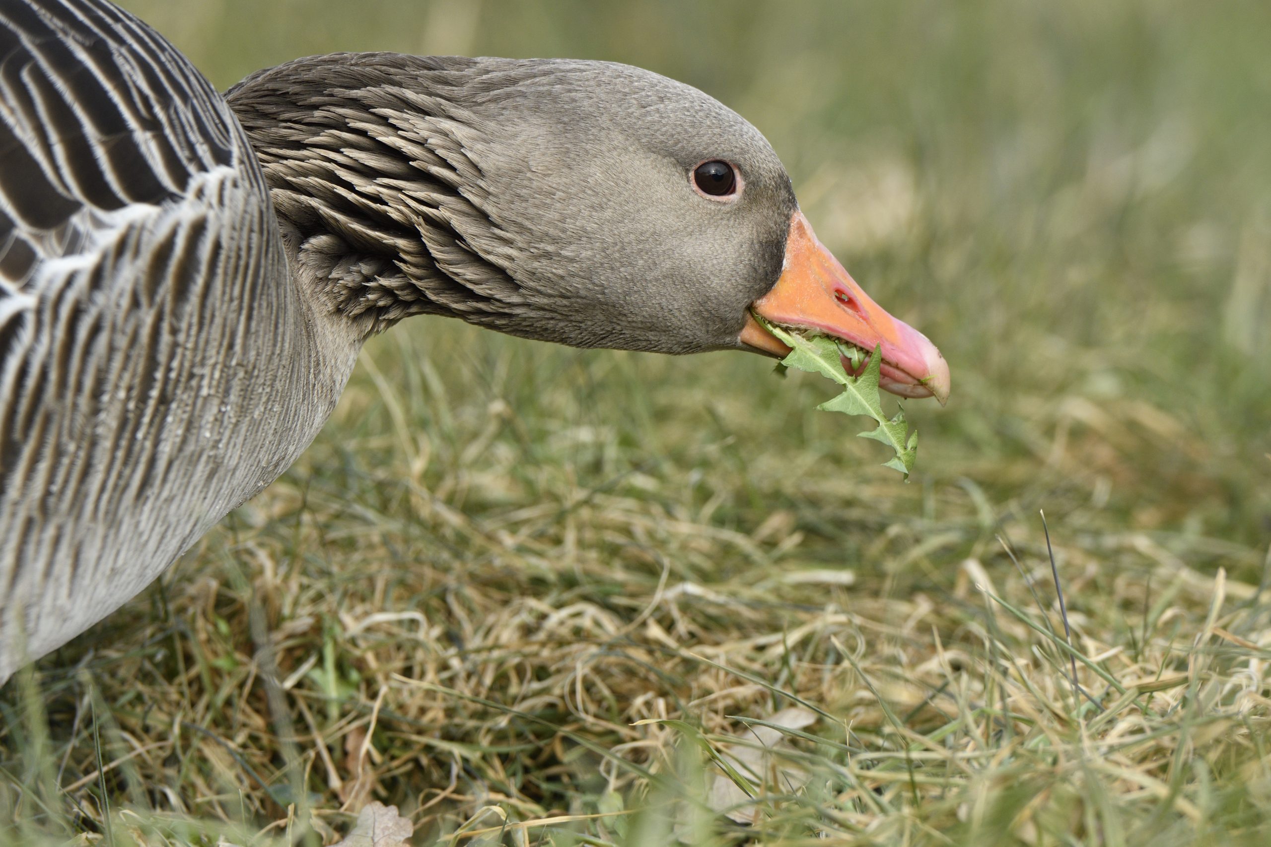
[[[906,405],[905,485],[758,357],[408,321],[0,691],[0,841],[329,843],[379,800],[465,847],[1266,843],[1263,5],[127,5],[221,86],[337,48],[697,84],[953,400]]]

